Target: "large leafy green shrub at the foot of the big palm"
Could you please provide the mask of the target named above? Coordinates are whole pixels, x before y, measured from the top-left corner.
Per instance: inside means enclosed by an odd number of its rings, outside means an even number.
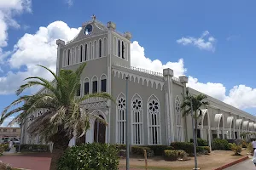
[[[116,145],[82,144],[67,149],[58,162],[58,170],[118,170]]]

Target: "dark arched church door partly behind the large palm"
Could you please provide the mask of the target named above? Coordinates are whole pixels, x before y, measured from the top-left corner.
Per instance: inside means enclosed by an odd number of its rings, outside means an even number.
[[[103,120],[103,116],[100,116]],[[96,119],[94,123],[94,142],[104,144],[106,141],[106,125]]]

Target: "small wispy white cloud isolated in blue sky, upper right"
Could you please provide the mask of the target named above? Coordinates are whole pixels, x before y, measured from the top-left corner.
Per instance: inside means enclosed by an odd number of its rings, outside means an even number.
[[[183,46],[193,45],[197,48],[214,52],[216,39],[210,36],[209,31],[204,31],[201,37],[182,37],[177,40],[177,43]]]

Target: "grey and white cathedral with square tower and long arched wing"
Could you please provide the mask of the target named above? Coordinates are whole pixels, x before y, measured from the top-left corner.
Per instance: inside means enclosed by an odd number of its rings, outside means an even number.
[[[59,39],[56,44],[57,74],[61,69],[76,70],[81,63],[87,63],[78,96],[106,92],[116,99],[116,104],[105,99],[84,101],[86,110],[108,123],[106,126],[90,120],[84,142],[125,144],[127,122],[132,145],[166,145],[193,138],[191,116],[183,116],[180,106],[186,90],[192,95],[202,93],[187,87],[188,77],[174,77],[172,68],[155,72],[131,66],[129,31],[121,33],[112,21],[104,25],[93,16],[72,41]],[[48,92],[41,89],[38,93]],[[207,96],[207,101],[209,105],[201,108],[198,120],[199,138],[211,144],[214,138],[241,139],[241,133],[256,131],[255,116],[211,96]],[[21,125],[21,144],[44,143],[38,135],[26,133],[37,116],[44,116],[44,111],[33,113],[30,121]],[[74,145],[75,139],[69,144]]]

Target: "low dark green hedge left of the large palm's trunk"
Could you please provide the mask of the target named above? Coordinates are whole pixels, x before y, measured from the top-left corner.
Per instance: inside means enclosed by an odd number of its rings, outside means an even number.
[[[16,151],[19,150],[19,145],[15,144]],[[49,152],[49,144],[20,144],[20,152]]]

